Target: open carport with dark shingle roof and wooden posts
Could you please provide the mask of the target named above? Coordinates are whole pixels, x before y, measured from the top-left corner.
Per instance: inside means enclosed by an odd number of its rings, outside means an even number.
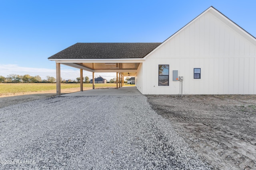
[[[144,57],[161,43],[76,43],[48,59],[56,62],[56,93],[61,94],[60,64],[92,72],[116,72],[116,89],[124,85],[124,76],[136,76]],[[80,91],[83,82],[80,81]]]

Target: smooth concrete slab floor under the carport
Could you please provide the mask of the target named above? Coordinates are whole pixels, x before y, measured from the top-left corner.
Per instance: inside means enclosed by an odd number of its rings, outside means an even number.
[[[63,94],[61,96],[134,96],[142,95],[135,86],[124,86],[118,89],[92,89],[83,92]]]

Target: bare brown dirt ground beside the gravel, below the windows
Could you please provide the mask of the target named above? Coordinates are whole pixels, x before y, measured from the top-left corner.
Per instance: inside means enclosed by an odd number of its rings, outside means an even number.
[[[256,170],[256,95],[148,95],[213,169]]]

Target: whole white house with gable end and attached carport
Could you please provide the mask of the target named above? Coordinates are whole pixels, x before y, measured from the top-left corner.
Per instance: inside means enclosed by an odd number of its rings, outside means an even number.
[[[142,94],[256,94],[256,38],[213,7],[163,43],[77,43],[48,59],[58,82],[61,63],[129,73]]]

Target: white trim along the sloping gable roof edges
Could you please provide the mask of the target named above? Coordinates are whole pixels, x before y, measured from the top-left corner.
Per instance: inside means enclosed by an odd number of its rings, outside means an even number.
[[[206,12],[210,12],[212,13],[214,16],[216,16],[220,21],[226,23],[226,25],[228,25],[229,27],[231,27],[234,31],[236,31],[237,33],[239,33],[240,35],[242,35],[244,38],[246,38],[248,41],[250,41],[252,44],[256,45],[256,38],[251,35],[250,33],[248,33],[247,31],[245,31],[242,27],[240,27],[238,24],[236,24],[234,21],[230,20],[228,17],[226,17],[224,14],[222,14],[221,12],[219,12],[218,10],[216,10],[213,6],[210,6],[207,10],[205,10],[204,12],[202,12],[199,16],[197,16],[196,18],[194,18],[192,21],[190,21],[189,23],[187,23],[184,27],[182,27],[181,29],[179,29],[178,31],[176,31],[176,33],[172,34],[170,37],[168,37],[162,44],[160,44],[158,47],[156,47],[153,51],[151,51],[147,56],[145,56],[145,59],[154,51],[156,51],[157,49],[159,49],[160,47],[162,47],[162,45],[164,45],[166,42],[168,42],[170,39],[172,39],[173,37],[175,37],[175,35],[177,35],[178,33],[180,33],[182,30],[184,30],[186,27],[188,27],[191,23],[193,23],[194,21],[198,20],[198,18],[200,18],[201,16],[203,16]]]

